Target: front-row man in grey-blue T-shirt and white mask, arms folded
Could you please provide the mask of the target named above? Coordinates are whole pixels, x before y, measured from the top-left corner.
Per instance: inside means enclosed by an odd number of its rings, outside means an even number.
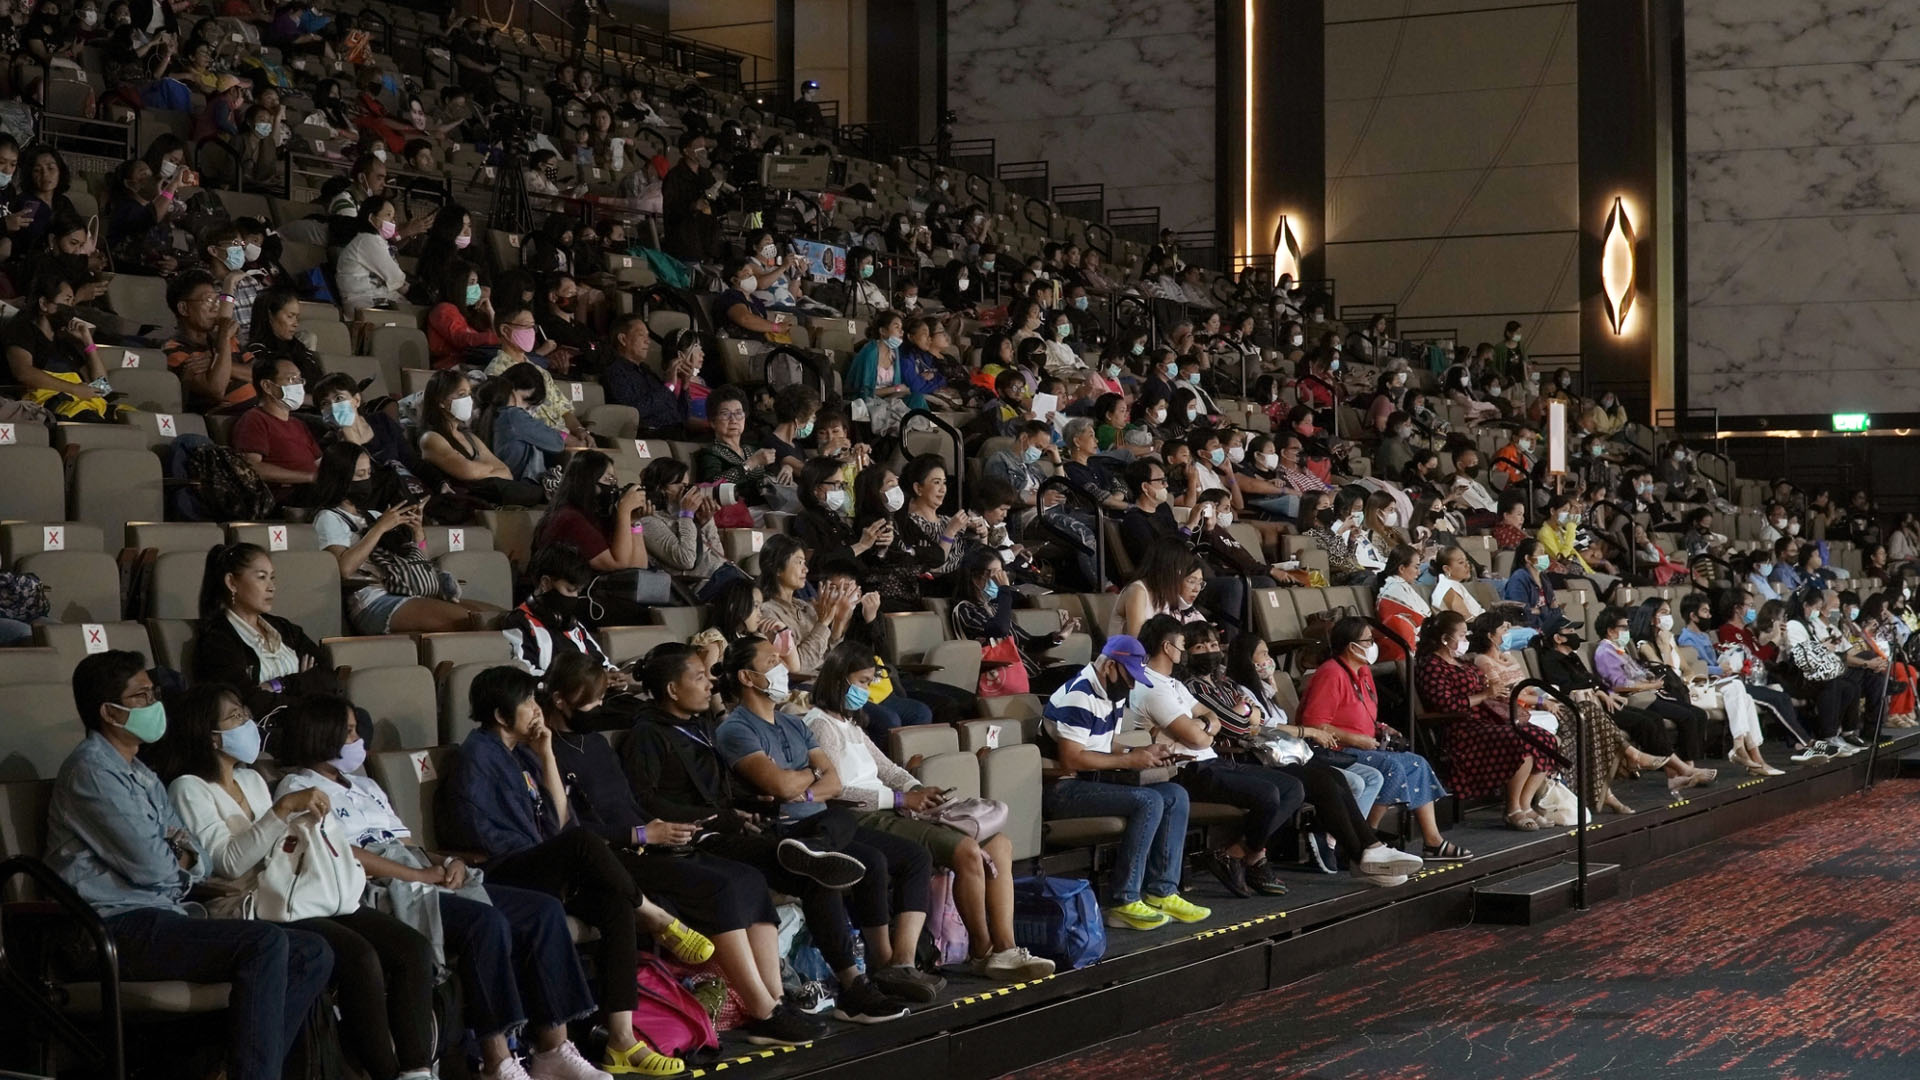
[[[789,696],[787,669],[772,644],[741,636],[728,646],[718,676],[733,709],[714,728],[714,748],[741,786],[770,796],[783,822],[804,822],[828,811],[826,801],[841,796],[843,780],[806,723],[781,711]],[[914,942],[925,924],[931,855],[904,836],[866,826],[841,849],[866,867],[847,901],[866,945],[872,990],[881,999],[931,1003],[945,980],[912,967]],[[854,1001],[868,995],[854,982],[845,986],[856,992]],[[874,1019],[895,1015],[899,1011],[889,1005]]]

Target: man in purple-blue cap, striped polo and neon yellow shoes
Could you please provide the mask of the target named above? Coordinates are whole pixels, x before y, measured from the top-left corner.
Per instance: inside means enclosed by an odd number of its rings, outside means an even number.
[[[1169,765],[1173,746],[1114,749],[1114,732],[1135,686],[1154,686],[1140,642],[1116,634],[1100,655],[1046,700],[1041,749],[1058,763],[1041,798],[1048,819],[1123,817],[1127,836],[1110,876],[1106,924],[1154,930],[1169,919],[1198,922],[1212,915],[1179,896],[1181,861],[1187,855],[1187,790],[1173,782],[1119,784],[1100,780],[1100,771],[1156,769]]]

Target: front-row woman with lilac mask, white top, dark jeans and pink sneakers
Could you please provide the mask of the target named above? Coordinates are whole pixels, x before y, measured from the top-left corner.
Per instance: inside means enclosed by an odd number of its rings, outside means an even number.
[[[346,701],[307,698],[288,707],[273,751],[288,769],[275,796],[303,788],[324,792],[353,838],[353,855],[369,882],[434,886],[442,955],[453,957],[461,976],[467,1026],[480,1040],[486,1080],[605,1080],[607,1074],[566,1040],[566,1022],[589,1017],[595,1007],[559,899],[495,884],[484,886],[486,899],[459,896],[467,865],[407,846],[413,832],[394,813],[386,792],[357,774],[367,761],[367,742]],[[419,890],[392,890],[388,896],[392,903],[415,894]],[[534,1045],[524,1067],[507,1045],[516,1030]]]

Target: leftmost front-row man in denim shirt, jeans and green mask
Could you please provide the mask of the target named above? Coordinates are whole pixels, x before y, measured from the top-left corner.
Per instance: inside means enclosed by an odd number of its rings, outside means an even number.
[[[86,738],[54,780],[46,863],[102,919],[129,982],[227,982],[228,1080],[280,1080],[307,1011],[326,988],[334,953],[319,934],[240,919],[200,919],[186,892],[207,876],[205,855],[136,755],[167,730],[140,653],[109,650],[73,669],[73,705]],[[313,792],[307,809],[328,813]]]

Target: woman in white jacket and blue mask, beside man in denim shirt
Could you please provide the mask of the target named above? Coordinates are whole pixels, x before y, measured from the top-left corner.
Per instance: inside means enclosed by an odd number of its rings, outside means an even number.
[[[240,696],[219,684],[200,684],[167,700],[167,734],[142,749],[167,780],[180,821],[207,853],[207,884],[232,905],[257,886],[267,855],[286,840],[301,815],[326,819],[326,794],[317,788],[275,799],[252,769],[261,751],[261,728]],[[351,849],[340,851],[353,859]],[[434,949],[392,915],[359,907],[332,919],[294,922],[326,938],[334,949],[332,990],[342,1013],[340,1038],[372,1080],[428,1080],[434,1067]]]

